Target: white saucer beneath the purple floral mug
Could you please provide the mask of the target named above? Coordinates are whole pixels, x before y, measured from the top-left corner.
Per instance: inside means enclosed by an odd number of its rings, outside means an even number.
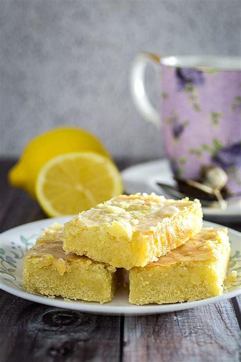
[[[158,182],[174,185],[171,170],[167,159],[159,159],[138,163],[122,172],[124,189],[127,193],[136,192],[156,192],[160,194],[161,188]],[[241,201],[230,202],[226,210],[203,207],[203,214],[208,220],[212,221],[240,221],[241,220]]]

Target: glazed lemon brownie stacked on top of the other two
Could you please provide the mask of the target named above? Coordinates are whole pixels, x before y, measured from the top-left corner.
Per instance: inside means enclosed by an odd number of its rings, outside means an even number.
[[[158,260],[201,228],[199,200],[167,200],[155,193],[119,195],[67,222],[63,248],[131,269]]]

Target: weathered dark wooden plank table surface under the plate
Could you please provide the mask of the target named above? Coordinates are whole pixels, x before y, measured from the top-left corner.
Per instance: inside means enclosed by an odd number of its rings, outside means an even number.
[[[0,161],[0,232],[46,217],[25,192],[8,185],[13,164]],[[239,296],[186,311],[118,317],[48,307],[0,291],[0,361],[238,361],[240,305]]]

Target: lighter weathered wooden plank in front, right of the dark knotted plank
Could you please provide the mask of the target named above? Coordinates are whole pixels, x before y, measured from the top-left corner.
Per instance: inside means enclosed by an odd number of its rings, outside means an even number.
[[[238,362],[239,351],[239,327],[231,300],[176,313],[125,318],[126,362]]]

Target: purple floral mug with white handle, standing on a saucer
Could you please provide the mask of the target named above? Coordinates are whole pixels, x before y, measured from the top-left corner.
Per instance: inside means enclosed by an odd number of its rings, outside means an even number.
[[[161,112],[146,94],[148,63],[161,76]],[[241,58],[141,52],[131,70],[131,91],[141,115],[161,124],[175,177],[198,179],[203,165],[219,165],[229,189],[241,191]]]

